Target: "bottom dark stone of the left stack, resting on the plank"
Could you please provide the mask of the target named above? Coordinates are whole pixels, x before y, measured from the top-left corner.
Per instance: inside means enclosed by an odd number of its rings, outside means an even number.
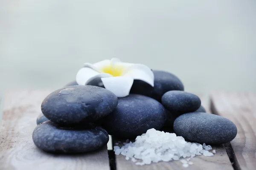
[[[108,143],[102,127],[60,127],[51,121],[38,125],[32,135],[35,145],[51,153],[85,153]]]

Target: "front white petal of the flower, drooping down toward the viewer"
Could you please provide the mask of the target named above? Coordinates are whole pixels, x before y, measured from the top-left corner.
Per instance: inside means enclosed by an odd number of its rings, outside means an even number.
[[[104,87],[112,91],[117,97],[128,96],[133,84],[132,77],[108,77],[101,79]]]

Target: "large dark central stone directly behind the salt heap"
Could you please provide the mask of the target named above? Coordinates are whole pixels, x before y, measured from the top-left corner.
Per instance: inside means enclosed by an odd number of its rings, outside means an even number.
[[[110,135],[134,138],[151,128],[160,130],[166,121],[166,109],[155,99],[130,94],[119,98],[116,109],[102,120],[102,127]]]

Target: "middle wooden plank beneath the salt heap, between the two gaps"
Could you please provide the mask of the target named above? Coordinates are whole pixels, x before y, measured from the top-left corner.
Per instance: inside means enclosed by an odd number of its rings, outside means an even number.
[[[198,95],[202,100],[202,105],[205,109],[209,112],[209,98],[207,95]],[[119,139],[112,139],[114,144]],[[121,142],[125,142],[122,140]],[[118,145],[119,147],[122,144]],[[182,166],[180,161],[170,161],[170,162],[158,162],[152,163],[150,165],[135,165],[134,162],[131,160],[125,160],[125,157],[122,155],[116,156],[116,169],[117,170],[233,170],[231,162],[227,156],[226,150],[224,145],[212,146],[213,149],[216,150],[216,154],[211,157],[207,156],[196,156],[195,158],[191,159],[193,165],[189,165],[189,168],[185,168]]]

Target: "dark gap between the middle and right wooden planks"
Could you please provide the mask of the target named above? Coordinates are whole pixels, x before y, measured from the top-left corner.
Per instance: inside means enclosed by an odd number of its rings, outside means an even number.
[[[210,110],[211,110],[212,114],[219,115],[218,111],[216,110],[216,108],[213,104],[212,98],[210,98]],[[234,170],[241,170],[241,168],[239,166],[239,163],[237,161],[236,155],[234,153],[233,147],[230,144],[230,142],[225,143],[224,147],[225,147],[225,150],[227,152],[227,156],[229,157],[230,162],[231,162],[232,167],[234,168]]]

